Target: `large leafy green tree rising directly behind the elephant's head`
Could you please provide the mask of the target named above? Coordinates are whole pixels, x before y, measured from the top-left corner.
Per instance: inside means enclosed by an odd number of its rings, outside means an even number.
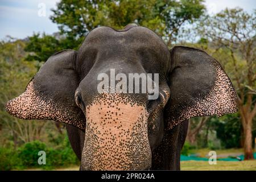
[[[52,10],[51,19],[59,25],[61,34],[81,38],[98,26],[121,29],[138,23],[158,32],[168,46],[176,40],[179,28],[200,18],[203,0],[62,0]]]

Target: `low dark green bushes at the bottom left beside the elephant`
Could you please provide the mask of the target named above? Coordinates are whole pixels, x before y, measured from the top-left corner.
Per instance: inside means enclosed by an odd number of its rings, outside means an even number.
[[[38,164],[39,151],[46,152],[45,165]],[[17,150],[14,147],[0,147],[1,170],[23,168],[53,169],[70,165],[79,165],[79,160],[73,152],[67,137],[63,144],[57,148],[47,147],[46,143],[38,140],[25,143]]]

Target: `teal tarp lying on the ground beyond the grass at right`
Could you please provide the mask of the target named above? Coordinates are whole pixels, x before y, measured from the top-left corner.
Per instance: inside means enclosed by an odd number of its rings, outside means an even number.
[[[256,152],[253,154],[254,159],[256,159]],[[240,161],[245,159],[244,155],[239,155],[239,156],[230,156],[228,158],[217,158],[217,160],[222,160],[222,161]],[[197,156],[185,156],[185,155],[181,155],[180,156],[180,160],[181,161],[186,161],[186,160],[197,160],[197,161],[208,161],[209,158],[200,158]]]

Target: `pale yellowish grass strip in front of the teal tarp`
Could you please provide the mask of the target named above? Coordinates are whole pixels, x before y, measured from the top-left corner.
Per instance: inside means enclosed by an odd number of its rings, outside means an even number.
[[[181,161],[181,171],[211,171],[211,170],[254,170],[256,171],[256,160],[239,162],[217,161],[217,164],[210,165],[208,161]]]

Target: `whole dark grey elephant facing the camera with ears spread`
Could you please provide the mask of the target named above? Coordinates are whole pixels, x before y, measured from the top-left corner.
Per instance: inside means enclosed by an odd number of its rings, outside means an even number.
[[[111,69],[119,81],[130,73],[158,75],[158,97],[123,85],[123,92],[111,84],[98,92],[98,76],[111,77]],[[236,100],[230,78],[208,53],[169,49],[154,31],[128,24],[94,28],[78,51],[50,56],[6,111],[65,123],[81,170],[179,170],[189,118],[236,113]]]

